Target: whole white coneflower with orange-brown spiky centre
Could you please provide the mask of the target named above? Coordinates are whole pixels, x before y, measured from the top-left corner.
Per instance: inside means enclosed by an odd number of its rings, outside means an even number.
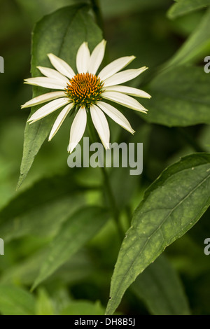
[[[22,108],[26,108],[48,102],[29,118],[28,121],[30,123],[35,123],[37,120],[64,106],[64,109],[59,113],[52,126],[49,141],[55,136],[68,113],[75,111],[76,116],[71,125],[68,146],[70,153],[83,137],[87,123],[87,111],[90,111],[94,127],[105,148],[109,148],[110,132],[104,113],[116,121],[118,125],[125,128],[125,130],[134,134],[134,130],[125,116],[111,104],[104,102],[104,100],[116,102],[129,109],[143,113],[147,111],[144,106],[129,95],[151,98],[149,94],[137,88],[120,85],[139,76],[147,67],[143,66],[140,69],[128,69],[119,72],[135,58],[134,56],[127,56],[114,60],[97,74],[97,70],[104,58],[105,47],[106,41],[103,40],[94,48],[90,55],[87,42],[82,43],[76,55],[78,73],[74,73],[71,66],[64,62],[63,59],[53,54],[48,54],[50,62],[55,69],[37,66],[44,76],[25,80],[25,83],[29,85],[61,90],[42,94],[22,105]]]

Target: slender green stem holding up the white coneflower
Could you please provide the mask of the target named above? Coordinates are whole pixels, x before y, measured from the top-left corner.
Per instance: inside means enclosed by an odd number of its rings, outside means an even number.
[[[95,141],[97,141],[97,135],[94,131],[94,127],[92,127],[92,125],[90,123],[90,116],[88,116],[88,117],[89,118],[87,118],[87,126],[88,126],[88,130],[89,130],[89,134],[90,134],[90,139],[92,140],[92,142],[95,142]],[[113,190],[111,188],[109,174],[107,173],[105,167],[100,167],[100,169],[102,170],[102,174],[103,174],[103,178],[104,178],[104,190],[106,191],[106,195],[109,199],[109,204],[110,204],[110,208],[111,208],[111,211],[113,214],[113,219],[116,223],[116,227],[118,229],[120,239],[123,241],[123,239],[125,237],[125,233],[124,233],[123,228],[120,223],[120,213],[119,213],[119,210],[118,210],[118,207],[116,204],[115,197],[113,195]]]

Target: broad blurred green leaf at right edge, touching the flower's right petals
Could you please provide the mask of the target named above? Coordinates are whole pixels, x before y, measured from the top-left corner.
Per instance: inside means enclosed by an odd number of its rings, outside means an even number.
[[[202,67],[178,66],[153,79],[148,92],[152,98],[142,100],[150,123],[168,127],[186,127],[210,123],[210,75]]]

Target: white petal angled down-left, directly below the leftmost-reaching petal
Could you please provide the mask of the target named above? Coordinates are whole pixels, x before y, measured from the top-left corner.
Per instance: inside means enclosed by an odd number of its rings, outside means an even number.
[[[35,121],[42,119],[45,116],[48,116],[48,114],[66,105],[67,103],[69,103],[69,99],[67,99],[66,97],[54,99],[54,101],[45,104],[40,109],[38,109],[34,114],[32,114],[31,118],[29,118],[28,121],[32,121],[32,123],[34,123]]]

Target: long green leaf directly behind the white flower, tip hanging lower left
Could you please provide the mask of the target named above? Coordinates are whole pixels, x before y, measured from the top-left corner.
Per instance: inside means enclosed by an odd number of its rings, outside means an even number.
[[[50,52],[64,59],[75,69],[76,52],[80,44],[83,41],[87,41],[90,50],[92,50],[102,40],[102,32],[87,13],[88,8],[89,6],[84,4],[61,8],[55,11],[55,13],[45,16],[36,24],[32,40],[32,76],[40,76],[36,66],[50,67],[47,56]],[[48,89],[42,87],[34,87],[33,90],[33,97],[49,92]],[[34,106],[31,113],[34,113],[38,107]],[[52,113],[50,116],[45,117],[43,120],[38,120],[32,125],[27,123],[18,188],[27,176],[34,158],[43,141],[48,136],[57,114]],[[66,141],[66,146],[67,143],[68,141]]]

